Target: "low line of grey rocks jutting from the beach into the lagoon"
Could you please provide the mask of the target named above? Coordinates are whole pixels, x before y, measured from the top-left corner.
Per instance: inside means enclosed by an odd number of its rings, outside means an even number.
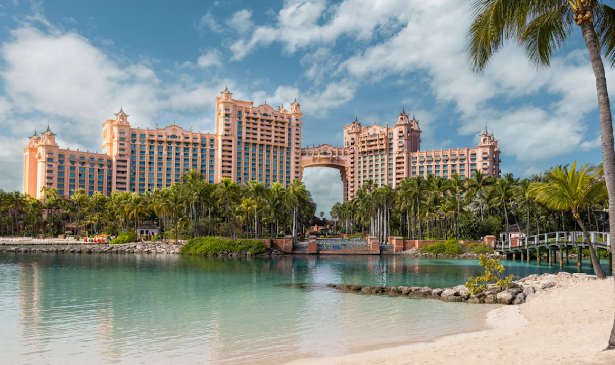
[[[410,298],[424,298],[443,300],[445,302],[467,302],[488,304],[522,304],[535,296],[540,291],[561,286],[571,281],[596,280],[595,275],[586,273],[559,272],[557,274],[545,273],[542,275],[530,275],[529,277],[515,280],[507,288],[490,284],[486,289],[477,294],[470,294],[465,285],[451,288],[429,288],[428,286],[361,286],[361,285],[336,285],[327,286],[344,292],[363,294],[376,294],[388,296],[405,296]]]

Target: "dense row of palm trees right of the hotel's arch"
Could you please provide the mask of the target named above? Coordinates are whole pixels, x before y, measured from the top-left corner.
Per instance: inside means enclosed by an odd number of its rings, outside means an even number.
[[[568,174],[580,174],[577,179],[581,183],[572,178],[563,181],[561,176]],[[575,183],[582,185],[575,192],[589,191],[577,197],[579,205],[574,209],[569,202],[555,205],[552,195],[569,191],[571,196],[571,184]],[[367,180],[352,200],[335,203],[330,213],[336,219],[336,230],[349,235],[360,232],[381,242],[390,236],[477,240],[485,235],[498,237],[500,231],[510,237],[511,227],[526,236],[582,228],[600,231],[604,224],[595,212],[607,206],[601,165],[577,167],[574,162],[526,179],[515,178],[512,173],[502,178],[483,176],[475,170],[468,179],[457,173],[450,179],[434,175],[403,178],[395,189],[375,187]]]

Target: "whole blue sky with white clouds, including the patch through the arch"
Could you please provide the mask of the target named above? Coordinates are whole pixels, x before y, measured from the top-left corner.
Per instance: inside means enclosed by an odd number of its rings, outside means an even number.
[[[469,0],[0,0],[0,188],[23,189],[34,128],[101,151],[120,107],[133,127],[215,130],[215,97],[271,106],[296,97],[303,145],[342,144],[344,125],[395,124],[421,149],[474,147],[493,131],[502,173],[601,161],[595,79],[578,29],[549,68],[508,44],[483,73],[464,53]],[[607,70],[607,82],[614,74]],[[339,171],[304,182],[330,216]]]

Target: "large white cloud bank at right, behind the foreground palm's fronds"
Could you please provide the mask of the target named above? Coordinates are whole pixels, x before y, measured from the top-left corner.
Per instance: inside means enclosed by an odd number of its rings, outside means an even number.
[[[547,160],[579,147],[587,131],[582,118],[597,105],[586,52],[573,50],[555,57],[550,68],[537,71],[520,47],[507,45],[484,73],[474,74],[463,49],[470,22],[467,3],[421,2],[408,9],[413,11],[405,28],[344,61],[347,77],[376,82],[395,74],[427,73],[436,100],[453,103],[460,113],[459,133],[475,135],[489,125],[502,151],[520,162]],[[610,70],[608,79],[613,79]],[[554,103],[501,107],[526,103],[541,93]],[[493,103],[495,98],[504,102]],[[591,144],[582,146],[587,149]]]

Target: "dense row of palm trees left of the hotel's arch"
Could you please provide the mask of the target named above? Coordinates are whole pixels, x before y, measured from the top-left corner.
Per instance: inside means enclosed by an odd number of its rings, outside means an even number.
[[[135,192],[101,192],[92,195],[83,189],[71,192],[69,199],[58,196],[53,187],[42,187],[42,199],[20,192],[0,190],[0,237],[65,234],[74,227],[79,237],[118,235],[137,230],[144,222],[156,224],[163,238],[224,235],[261,238],[290,235],[298,237],[309,226],[316,205],[305,185],[295,179],[265,187],[258,181],[244,186],[221,179],[210,184],[197,170],[182,176],[181,183],[165,189]]]

